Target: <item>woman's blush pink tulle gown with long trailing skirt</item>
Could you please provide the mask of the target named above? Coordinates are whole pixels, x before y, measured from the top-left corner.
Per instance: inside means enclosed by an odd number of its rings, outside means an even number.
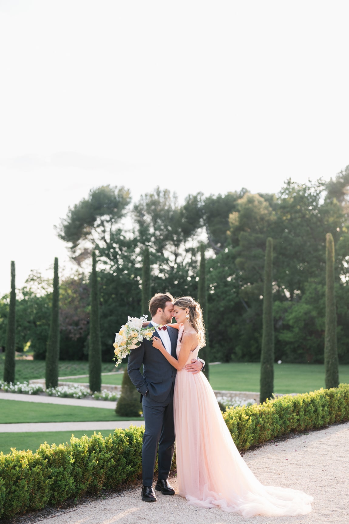
[[[183,328],[179,331],[181,339]],[[177,344],[177,357],[181,342]],[[199,348],[188,362],[198,356]],[[291,516],[311,511],[313,497],[296,489],[263,486],[237,451],[203,373],[178,371],[174,429],[179,494],[188,504],[219,506],[244,517]]]

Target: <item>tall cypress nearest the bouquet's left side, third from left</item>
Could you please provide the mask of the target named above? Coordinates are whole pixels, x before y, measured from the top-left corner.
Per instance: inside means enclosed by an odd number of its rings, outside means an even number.
[[[92,273],[90,278],[91,311],[89,338],[90,390],[101,391],[102,348],[100,333],[99,292],[96,271],[96,253],[92,253]]]

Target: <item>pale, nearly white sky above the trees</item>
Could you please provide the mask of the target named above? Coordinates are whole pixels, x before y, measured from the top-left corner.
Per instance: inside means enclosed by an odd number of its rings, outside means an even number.
[[[183,200],[334,177],[348,19],[346,0],[0,0],[0,296],[10,260],[17,287],[68,264],[53,225],[92,187]]]

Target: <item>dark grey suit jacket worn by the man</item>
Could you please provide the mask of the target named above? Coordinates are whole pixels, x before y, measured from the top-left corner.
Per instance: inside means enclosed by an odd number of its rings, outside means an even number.
[[[151,322],[150,326],[152,326]],[[178,330],[170,326],[168,326],[167,330],[171,341],[171,355],[177,358]],[[159,336],[156,331],[153,333],[153,336],[154,334]],[[143,375],[139,370],[142,364]],[[140,401],[142,401],[142,396],[148,391],[147,400],[162,403],[168,399],[171,388],[174,386],[177,369],[171,366],[162,353],[153,347],[151,339],[143,339],[139,347],[131,350],[128,356],[127,373],[140,392]]]

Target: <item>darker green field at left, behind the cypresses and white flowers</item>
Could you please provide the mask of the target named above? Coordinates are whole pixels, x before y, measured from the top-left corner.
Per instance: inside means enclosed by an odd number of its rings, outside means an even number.
[[[0,378],[4,376],[5,356],[0,356]],[[102,362],[102,373],[112,372],[115,369],[113,362]],[[59,376],[88,375],[89,363],[86,361],[60,361]],[[121,375],[122,376],[122,375]],[[15,380],[24,382],[25,380],[45,378],[45,361],[20,361],[16,360]],[[85,382],[88,380],[85,379]]]

